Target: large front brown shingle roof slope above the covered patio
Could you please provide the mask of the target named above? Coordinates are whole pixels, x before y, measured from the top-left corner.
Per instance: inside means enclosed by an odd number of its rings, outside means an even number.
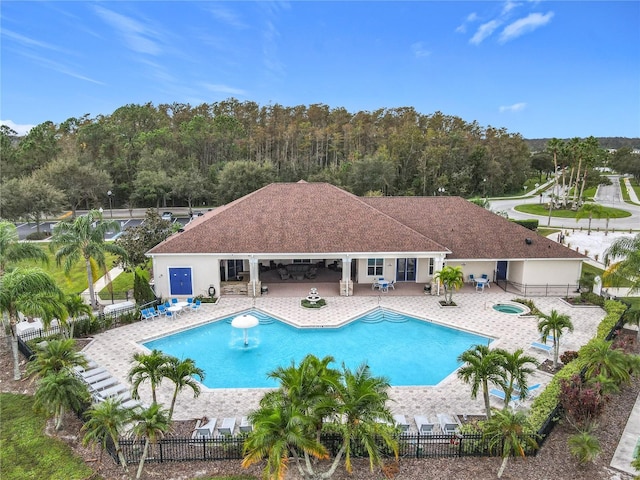
[[[274,183],[208,212],[154,247],[171,253],[447,252],[328,183]]]

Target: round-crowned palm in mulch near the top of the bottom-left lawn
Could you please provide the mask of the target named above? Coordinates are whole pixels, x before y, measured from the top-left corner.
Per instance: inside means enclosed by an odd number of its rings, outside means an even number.
[[[85,383],[68,370],[53,372],[38,381],[34,407],[53,414],[56,430],[62,428],[67,409],[79,410],[89,400]]]

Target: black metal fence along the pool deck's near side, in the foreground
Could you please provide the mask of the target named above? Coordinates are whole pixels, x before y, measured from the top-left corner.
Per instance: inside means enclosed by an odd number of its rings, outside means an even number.
[[[537,439],[534,434],[531,438]],[[149,445],[147,462],[185,462],[212,460],[241,460],[246,435],[214,436],[211,438],[164,438]],[[387,457],[393,452],[382,444],[380,450]],[[322,444],[331,456],[335,456],[342,446],[342,437],[338,434],[324,434]],[[529,444],[530,442],[524,442]],[[121,439],[120,448],[127,463],[139,462],[144,450],[145,440]],[[118,462],[113,444],[108,444],[109,454]],[[534,455],[535,448],[529,447],[525,453]],[[398,436],[398,454],[402,458],[454,458],[501,456],[502,446],[490,448],[489,440],[481,434],[426,435],[402,433]],[[364,445],[353,442],[351,455],[354,458],[366,458]]]

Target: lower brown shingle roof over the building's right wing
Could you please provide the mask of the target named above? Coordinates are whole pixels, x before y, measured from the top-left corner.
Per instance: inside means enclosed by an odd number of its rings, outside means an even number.
[[[584,258],[460,197],[365,197],[363,201],[450,249],[448,259]]]

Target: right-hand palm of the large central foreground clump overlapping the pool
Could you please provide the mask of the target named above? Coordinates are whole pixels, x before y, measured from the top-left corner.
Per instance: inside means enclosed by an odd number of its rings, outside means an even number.
[[[336,455],[329,474],[332,474],[344,452],[345,468],[351,473],[351,448],[354,444],[364,445],[369,456],[369,466],[373,472],[375,465],[383,464],[380,444],[383,441],[398,459],[398,441],[392,427],[392,415],[387,408],[389,381],[385,377],[371,375],[369,366],[360,365],[354,372],[342,366],[342,383],[338,389],[338,418],[344,422],[333,425],[342,435],[342,446]],[[383,423],[384,422],[384,423]]]

